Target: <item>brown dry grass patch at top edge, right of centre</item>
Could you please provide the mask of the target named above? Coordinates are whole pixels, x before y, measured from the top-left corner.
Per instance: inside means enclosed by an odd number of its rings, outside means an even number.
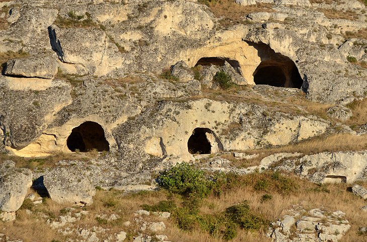
[[[251,6],[239,6],[232,0],[221,0],[221,1],[206,1],[199,0],[199,3],[207,5],[212,13],[217,17],[221,18],[220,24],[224,27],[232,26],[235,24],[243,24],[244,18],[249,13],[254,12],[274,12],[270,4],[257,4]],[[232,21],[232,23],[231,23]]]

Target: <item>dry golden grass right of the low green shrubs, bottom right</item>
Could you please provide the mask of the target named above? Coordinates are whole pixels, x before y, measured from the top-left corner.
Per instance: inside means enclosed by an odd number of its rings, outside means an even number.
[[[346,219],[349,220],[352,227],[349,232],[343,236],[340,241],[364,241],[364,238],[357,235],[359,227],[365,226],[364,221],[367,218],[367,213],[361,213],[359,207],[364,206],[363,199],[356,197],[351,192],[347,191],[348,184],[330,184],[327,189],[330,193],[318,191],[318,185],[310,183],[300,178],[292,178],[299,185],[299,189],[294,194],[281,195],[274,192],[259,192],[252,187],[241,186],[239,189],[234,189],[223,194],[220,199],[210,197],[207,199],[208,204],[212,204],[216,211],[224,210],[226,207],[237,204],[240,201],[247,199],[250,201],[250,206],[253,210],[263,214],[269,220],[277,220],[286,214],[286,210],[294,204],[302,204],[304,208],[311,209],[323,205],[331,211],[342,210],[346,212]],[[261,197],[264,194],[271,194],[272,199],[266,202],[261,202]],[[214,205],[213,205],[214,204]],[[206,211],[210,211],[208,206],[204,207]],[[211,211],[213,212],[213,211]],[[241,241],[241,240],[237,240]],[[251,240],[242,241],[269,241],[263,234],[258,232],[257,236],[253,236]]]

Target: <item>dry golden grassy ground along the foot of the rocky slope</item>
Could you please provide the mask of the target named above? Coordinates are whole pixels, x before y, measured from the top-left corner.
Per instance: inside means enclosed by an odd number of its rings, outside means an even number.
[[[294,204],[301,204],[306,210],[318,208],[321,205],[325,209],[346,212],[346,219],[352,225],[351,229],[340,241],[364,241],[367,237],[358,235],[358,228],[365,226],[367,213],[360,212],[359,207],[365,205],[365,201],[348,191],[349,184],[326,184],[318,185],[307,180],[292,176],[273,178],[273,173],[255,173],[252,175],[232,177],[231,182],[222,186],[223,192],[220,196],[211,194],[202,199],[199,205],[197,216],[210,217],[213,214],[222,214],[232,205],[236,205],[243,200],[247,200],[252,214],[260,216],[265,220],[272,221],[281,218],[286,211]],[[279,180],[278,180],[279,179]],[[263,184],[260,181],[272,182],[268,186],[258,186]],[[288,184],[280,185],[280,184]],[[366,186],[366,183],[360,183]],[[264,201],[263,196],[271,197]],[[132,241],[132,237],[137,235],[139,224],[134,222],[134,211],[141,209],[142,204],[154,205],[161,200],[170,200],[182,207],[185,197],[172,195],[165,190],[154,192],[141,192],[138,194],[124,195],[120,191],[97,190],[94,203],[84,208],[74,207],[72,214],[81,210],[89,213],[74,222],[75,228],[93,228],[99,226],[111,229],[108,234],[125,231],[128,233],[126,241]],[[76,234],[62,235],[55,229],[50,229],[46,223],[48,218],[57,218],[65,215],[70,204],[57,204],[50,199],[46,199],[43,204],[37,206],[25,205],[17,211],[17,219],[13,222],[0,223],[1,231],[5,231],[7,236],[24,239],[24,241],[52,241],[52,239],[65,241],[67,238],[77,238]],[[25,209],[32,211],[28,214]],[[164,221],[166,229],[164,234],[171,241],[225,241],[220,232],[210,234],[202,228],[202,224],[196,222],[189,230],[179,229],[176,224],[175,210],[168,220],[160,219],[155,215],[145,217],[150,221]],[[115,221],[104,221],[96,219],[96,214],[112,213],[118,214],[121,218]],[[48,217],[44,217],[44,215]],[[132,221],[130,226],[125,226],[125,221]],[[65,227],[65,226],[64,226]],[[3,229],[5,228],[5,230]],[[219,231],[222,228],[219,228]],[[261,225],[258,229],[236,228],[237,236],[231,241],[270,241],[265,237],[264,232],[267,224]],[[20,233],[19,231],[22,231]],[[142,231],[141,231],[142,232]],[[4,232],[3,232],[4,233]],[[144,232],[154,235],[152,232]],[[105,237],[108,237],[108,234]],[[80,237],[79,237],[80,238]]]

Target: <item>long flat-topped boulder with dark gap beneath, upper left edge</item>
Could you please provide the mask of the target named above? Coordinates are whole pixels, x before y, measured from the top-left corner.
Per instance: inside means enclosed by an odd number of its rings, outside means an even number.
[[[57,64],[51,57],[10,59],[4,73],[12,76],[52,79],[57,73]]]

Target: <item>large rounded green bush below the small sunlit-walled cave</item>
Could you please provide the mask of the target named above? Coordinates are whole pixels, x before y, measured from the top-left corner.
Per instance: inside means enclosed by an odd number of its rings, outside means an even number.
[[[158,178],[158,186],[171,193],[204,198],[212,191],[214,181],[204,176],[204,171],[182,162],[166,170]]]

